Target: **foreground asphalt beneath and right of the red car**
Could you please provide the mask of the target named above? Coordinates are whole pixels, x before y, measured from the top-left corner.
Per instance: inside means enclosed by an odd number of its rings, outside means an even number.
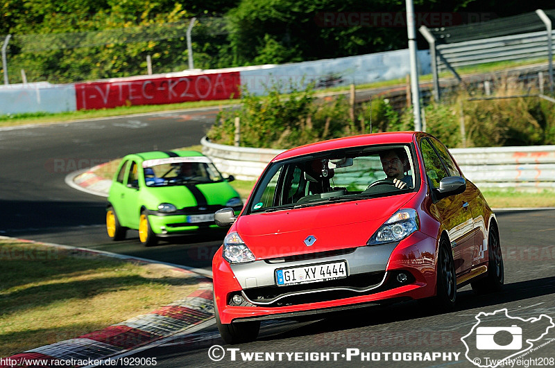
[[[209,358],[212,346],[223,345],[218,331],[212,326],[199,333],[176,338],[159,347],[142,351],[133,357],[156,357],[156,367],[220,367],[222,362],[230,367],[239,367],[245,364],[241,353],[246,358],[250,356],[253,360],[248,364],[255,367],[270,364],[310,367],[477,367],[465,358],[466,347],[461,338],[472,331],[472,326],[477,324],[476,316],[479,313],[493,313],[506,308],[511,318],[529,319],[547,315],[555,322],[555,210],[498,211],[497,219],[504,252],[505,288],[493,295],[478,296],[472,292],[470,286],[466,286],[459,292],[459,304],[452,313],[436,314],[434,310],[427,310],[411,301],[388,308],[368,307],[355,312],[351,310],[336,313],[311,322],[266,324],[262,327],[261,335],[256,342],[223,346],[223,349],[239,350],[234,351],[235,360],[232,360],[232,351],[226,350],[225,356],[219,362]],[[515,324],[514,319],[506,317],[503,313],[496,313],[488,318],[491,324],[497,327]],[[555,339],[555,327],[542,336],[547,328],[544,322],[547,322],[545,317],[536,322],[535,326],[531,324],[528,330],[524,328],[522,341],[541,336],[534,344],[536,347]],[[471,334],[470,338],[472,336]],[[497,335],[495,336],[497,339]],[[503,340],[506,338],[507,336],[501,335],[497,344],[509,344],[510,341]],[[521,359],[533,359],[536,362],[549,362],[551,359],[553,366],[554,343],[555,340]],[[474,347],[471,353],[475,355],[472,358],[481,358],[483,367],[486,367],[488,362],[491,364],[486,358],[494,356],[477,351],[475,344],[475,340],[474,346],[470,344],[470,347]],[[525,346],[527,345],[524,343],[522,349]],[[348,349],[355,349],[351,350],[351,360],[348,360]],[[307,356],[307,352],[313,356]],[[395,361],[392,355],[426,352],[452,353],[453,360],[443,361],[440,358],[422,362]],[[217,353],[217,356],[221,356],[221,351]],[[262,361],[255,361],[255,353],[259,354],[258,357]],[[266,359],[266,353],[273,353],[273,362]],[[279,353],[282,353],[281,362],[278,360]],[[289,361],[287,353],[300,353],[300,359]],[[326,356],[326,353],[329,355]],[[361,361],[363,353],[370,353],[370,361]],[[374,355],[371,355],[372,353]],[[391,353],[388,360],[387,353]],[[460,353],[456,361],[454,353]],[[317,360],[310,360],[311,358]],[[531,364],[530,361],[528,364]]]

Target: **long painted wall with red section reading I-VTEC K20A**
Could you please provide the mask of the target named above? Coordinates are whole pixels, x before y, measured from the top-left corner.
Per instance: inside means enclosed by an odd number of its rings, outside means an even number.
[[[430,73],[429,51],[418,51],[418,60],[420,73]],[[317,88],[324,88],[404,78],[409,71],[407,49],[283,65],[180,71],[67,85],[47,82],[0,85],[0,114],[222,100],[238,98],[241,85],[261,95],[266,86],[275,82],[289,85],[293,81],[296,87],[304,88],[314,81]]]

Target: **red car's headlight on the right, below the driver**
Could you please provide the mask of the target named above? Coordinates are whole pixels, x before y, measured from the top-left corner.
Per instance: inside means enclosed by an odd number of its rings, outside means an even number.
[[[379,227],[366,244],[392,243],[404,238],[420,228],[418,213],[413,209],[400,209]]]

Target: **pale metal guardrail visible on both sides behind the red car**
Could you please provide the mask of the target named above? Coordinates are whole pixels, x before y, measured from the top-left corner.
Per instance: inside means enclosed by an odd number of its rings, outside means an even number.
[[[252,180],[282,150],[243,148],[203,138],[203,153],[225,174]],[[454,148],[461,170],[479,188],[555,189],[555,146]]]

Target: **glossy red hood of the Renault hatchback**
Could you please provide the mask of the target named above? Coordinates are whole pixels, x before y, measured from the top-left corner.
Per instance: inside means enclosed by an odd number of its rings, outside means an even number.
[[[235,229],[256,259],[359,247],[415,194],[239,216]]]

